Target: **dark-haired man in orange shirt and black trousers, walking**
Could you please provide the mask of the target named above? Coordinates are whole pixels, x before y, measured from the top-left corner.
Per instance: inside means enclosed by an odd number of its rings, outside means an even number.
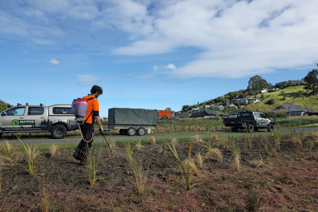
[[[80,125],[80,129],[82,131],[83,138],[86,141],[91,140],[93,136],[95,120],[100,127],[100,132],[103,132],[103,127],[101,126],[99,116],[99,103],[97,100],[101,94],[103,94],[103,89],[98,85],[94,85],[91,89],[91,94],[87,94],[87,96],[83,97],[88,104],[88,108],[84,124]],[[79,160],[81,165],[85,164],[86,153],[89,151],[89,148],[93,143],[93,140],[86,142],[84,139],[79,142],[79,145],[76,147],[73,154],[73,157],[76,160]]]

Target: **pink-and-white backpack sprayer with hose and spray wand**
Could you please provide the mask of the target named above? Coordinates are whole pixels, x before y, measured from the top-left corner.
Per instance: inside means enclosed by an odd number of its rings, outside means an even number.
[[[88,119],[88,117],[93,113],[93,111],[91,112],[91,114],[89,114],[89,116],[87,117],[87,119],[85,120],[85,117],[86,117],[86,114],[87,114],[87,109],[88,109],[88,104],[87,104],[87,101],[91,100],[91,99],[95,99],[93,97],[85,100],[83,98],[77,98],[77,99],[74,99],[73,102],[72,102],[72,107],[71,107],[71,113],[73,115],[75,115],[75,119],[74,121],[70,121],[69,122],[72,122],[72,123],[76,123],[78,126],[80,124],[84,124],[86,122],[86,120]],[[98,130],[99,128],[95,129],[93,135],[92,135],[92,138],[91,140],[93,139],[93,136],[96,132],[96,130]],[[82,136],[82,139],[85,141],[85,142],[90,142],[91,140],[87,141],[84,139],[83,137],[83,134],[82,134],[82,131],[80,129],[80,126],[79,126],[79,132]],[[104,137],[104,139],[106,140],[105,138],[105,135],[104,135],[104,131],[100,132],[100,134]],[[106,140],[107,142],[107,140]],[[108,144],[108,142],[107,142]],[[110,149],[110,152],[112,152],[112,149],[110,148],[109,144],[108,144],[108,147]]]

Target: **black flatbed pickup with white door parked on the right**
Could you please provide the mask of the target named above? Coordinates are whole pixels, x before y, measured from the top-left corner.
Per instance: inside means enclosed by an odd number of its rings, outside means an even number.
[[[255,132],[258,129],[267,129],[268,132],[273,132],[276,121],[259,112],[239,112],[236,118],[223,119],[225,127],[231,127],[232,132],[237,132],[239,129],[247,128],[249,133]]]

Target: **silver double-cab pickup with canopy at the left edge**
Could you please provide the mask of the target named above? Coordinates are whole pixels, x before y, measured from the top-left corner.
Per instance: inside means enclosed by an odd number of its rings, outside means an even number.
[[[67,131],[78,129],[69,122],[75,118],[71,105],[21,105],[10,107],[0,114],[0,136],[3,133],[51,132],[54,139],[64,138]]]

